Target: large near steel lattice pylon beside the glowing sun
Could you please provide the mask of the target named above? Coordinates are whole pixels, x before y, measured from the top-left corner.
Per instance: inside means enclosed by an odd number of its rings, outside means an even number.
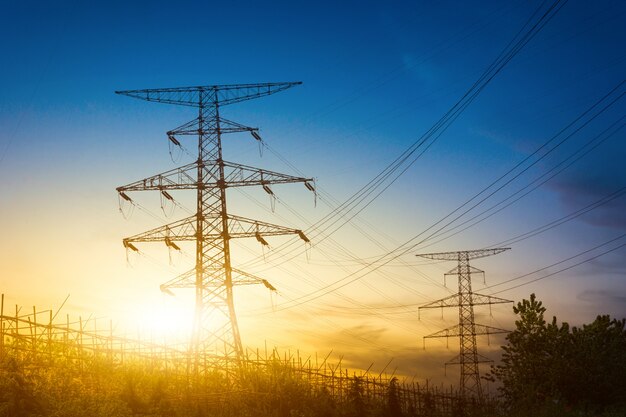
[[[308,242],[301,230],[229,214],[226,190],[230,187],[261,186],[270,195],[271,184],[303,182],[315,191],[311,178],[294,177],[254,168],[222,158],[222,135],[249,132],[261,140],[258,128],[225,119],[222,107],[270,94],[278,93],[300,82],[212,85],[200,87],[161,88],[150,90],[116,91],[146,101],[196,107],[198,117],[167,132],[168,139],[181,146],[177,137],[198,137],[198,159],[188,165],[172,169],[130,184],[118,187],[120,196],[128,201],[130,191],[159,191],[168,199],[170,190],[195,190],[196,212],[191,217],[157,227],[125,238],[124,246],[137,251],[136,242],[162,241],[169,248],[179,249],[175,241],[194,241],[195,268],[161,285],[161,290],[172,294],[172,288],[195,288],[195,315],[191,350],[194,371],[224,365],[233,360],[241,365],[243,347],[235,305],[233,286],[262,283],[274,290],[266,280],[239,271],[231,265],[230,241],[235,238],[256,237],[267,245],[264,236],[296,234]]]

